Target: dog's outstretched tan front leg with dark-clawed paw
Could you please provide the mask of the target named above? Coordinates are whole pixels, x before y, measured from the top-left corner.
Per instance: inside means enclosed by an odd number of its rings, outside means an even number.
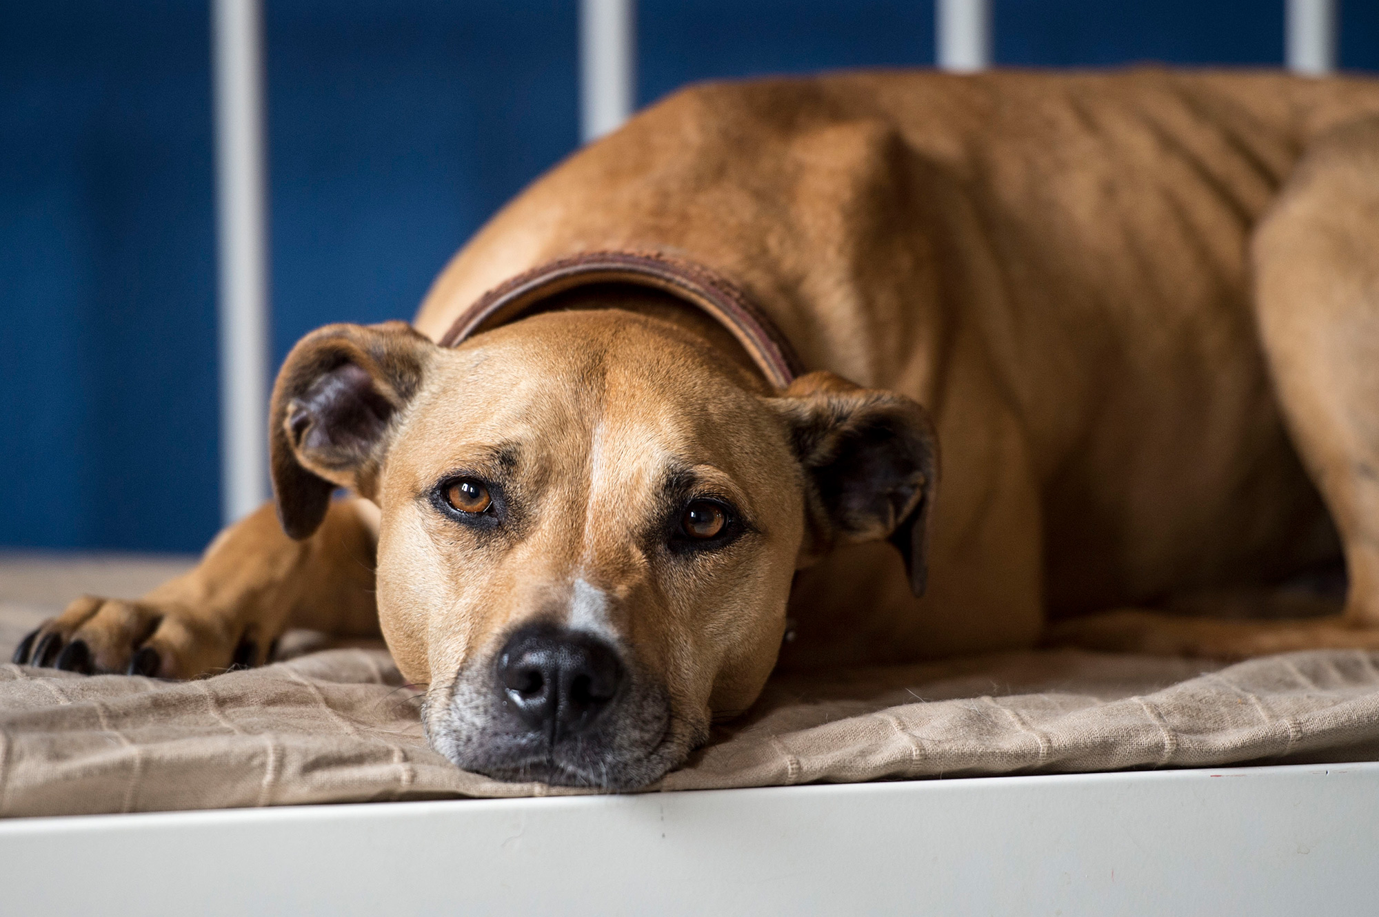
[[[288,626],[376,635],[375,518],[372,504],[339,500],[294,541],[268,504],[142,599],[81,596],[25,637],[14,661],[188,679],[262,664]]]

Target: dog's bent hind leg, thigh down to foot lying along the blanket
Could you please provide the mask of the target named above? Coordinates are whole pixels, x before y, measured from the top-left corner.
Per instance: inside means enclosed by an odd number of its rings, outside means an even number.
[[[1062,621],[1045,643],[1223,658],[1379,650],[1379,118],[1307,149],[1256,229],[1252,257],[1280,409],[1340,534],[1343,611],[1226,621],[1118,610]]]

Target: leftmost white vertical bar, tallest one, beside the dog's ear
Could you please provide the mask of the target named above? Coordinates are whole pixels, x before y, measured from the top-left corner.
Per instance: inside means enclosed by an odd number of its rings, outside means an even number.
[[[221,512],[268,498],[268,222],[259,0],[212,0]]]

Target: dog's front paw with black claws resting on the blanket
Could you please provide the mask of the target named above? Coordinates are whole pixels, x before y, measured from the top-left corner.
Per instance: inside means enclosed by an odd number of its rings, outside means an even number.
[[[85,675],[190,679],[259,665],[266,649],[252,625],[223,615],[87,595],[26,636],[12,661]]]

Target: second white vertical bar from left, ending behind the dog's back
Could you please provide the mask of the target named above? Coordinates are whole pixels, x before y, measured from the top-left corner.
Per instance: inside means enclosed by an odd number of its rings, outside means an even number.
[[[579,132],[597,139],[636,105],[636,0],[579,1]]]

